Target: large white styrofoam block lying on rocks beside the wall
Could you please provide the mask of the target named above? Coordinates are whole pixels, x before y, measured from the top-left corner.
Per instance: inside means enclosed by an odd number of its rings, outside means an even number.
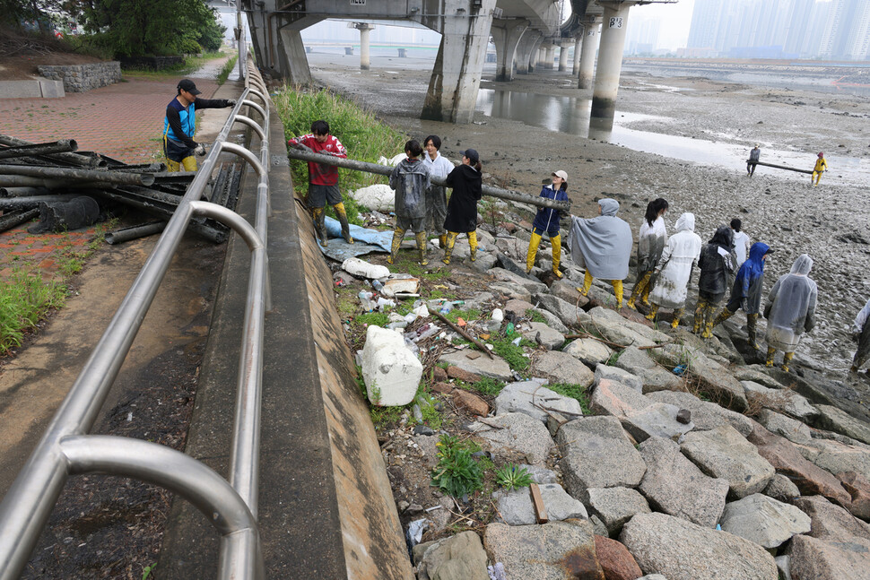
[[[362,379],[373,405],[396,407],[413,401],[423,366],[405,346],[405,339],[380,326],[369,326],[362,349]]]

